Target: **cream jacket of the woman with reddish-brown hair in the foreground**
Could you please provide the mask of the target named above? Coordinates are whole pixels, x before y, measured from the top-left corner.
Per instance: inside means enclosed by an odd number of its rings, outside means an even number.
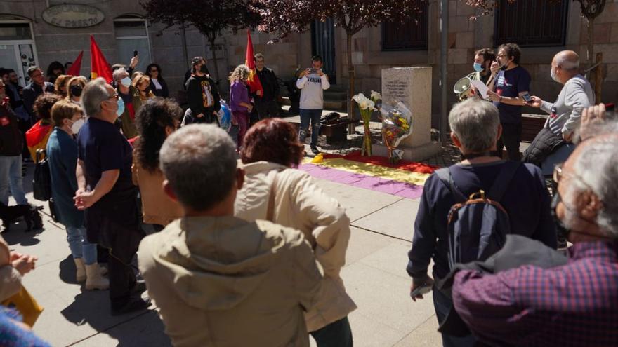
[[[272,222],[302,231],[324,268],[320,300],[305,313],[308,331],[345,318],[356,309],[340,275],[350,240],[346,210],[316,186],[306,172],[267,161],[239,166],[246,175],[236,197],[235,215],[249,222],[267,219],[272,191]]]

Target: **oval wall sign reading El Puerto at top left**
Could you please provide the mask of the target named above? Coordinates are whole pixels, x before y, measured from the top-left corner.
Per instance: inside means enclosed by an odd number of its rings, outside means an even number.
[[[93,6],[65,4],[47,8],[43,20],[55,27],[77,29],[98,25],[105,20],[105,14]]]

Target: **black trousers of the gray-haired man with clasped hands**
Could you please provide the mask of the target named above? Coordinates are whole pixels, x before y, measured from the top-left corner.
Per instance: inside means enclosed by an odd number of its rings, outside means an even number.
[[[131,288],[136,284],[131,261],[145,236],[136,200],[119,200],[108,208],[88,208],[86,229],[89,241],[107,249],[110,302],[112,308],[121,308],[131,299]]]

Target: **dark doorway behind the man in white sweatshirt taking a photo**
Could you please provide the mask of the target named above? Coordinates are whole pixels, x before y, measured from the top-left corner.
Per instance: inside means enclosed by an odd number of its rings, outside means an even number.
[[[332,18],[311,23],[311,53],[321,55],[324,60],[322,71],[328,75],[331,84],[337,83],[335,69],[335,23]]]

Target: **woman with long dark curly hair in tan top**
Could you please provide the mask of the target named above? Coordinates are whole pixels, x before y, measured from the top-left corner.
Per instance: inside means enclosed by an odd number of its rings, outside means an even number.
[[[180,125],[182,113],[173,100],[156,97],[136,114],[140,137],[133,149],[133,184],[140,189],[144,223],[154,224],[157,231],[183,215],[180,205],[164,193],[164,176],[159,169],[159,150]]]

